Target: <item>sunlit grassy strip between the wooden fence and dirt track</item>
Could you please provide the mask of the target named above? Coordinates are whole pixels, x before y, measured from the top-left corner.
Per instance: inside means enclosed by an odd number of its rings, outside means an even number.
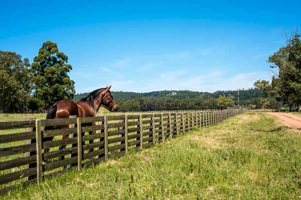
[[[300,199],[301,132],[247,112],[1,199]]]

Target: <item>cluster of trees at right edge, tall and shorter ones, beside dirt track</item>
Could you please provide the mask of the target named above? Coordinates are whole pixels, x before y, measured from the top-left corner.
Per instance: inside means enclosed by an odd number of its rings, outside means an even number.
[[[278,104],[288,106],[289,111],[299,111],[301,106],[300,33],[296,29],[289,36],[285,35],[286,44],[268,56],[270,67],[275,69],[271,82],[257,80],[254,86],[265,94],[260,99],[263,108]]]

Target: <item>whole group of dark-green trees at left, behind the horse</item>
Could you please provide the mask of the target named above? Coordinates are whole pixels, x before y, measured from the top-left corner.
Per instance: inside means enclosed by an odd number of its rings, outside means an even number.
[[[72,99],[72,66],[55,42],[46,41],[32,63],[20,54],[0,50],[0,111],[48,109],[55,101]]]

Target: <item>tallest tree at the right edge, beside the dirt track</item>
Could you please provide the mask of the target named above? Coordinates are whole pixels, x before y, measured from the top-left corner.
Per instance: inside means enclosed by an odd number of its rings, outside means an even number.
[[[271,67],[278,69],[272,78],[273,96],[298,111],[301,104],[301,40],[298,30],[286,38],[286,45],[268,57]]]

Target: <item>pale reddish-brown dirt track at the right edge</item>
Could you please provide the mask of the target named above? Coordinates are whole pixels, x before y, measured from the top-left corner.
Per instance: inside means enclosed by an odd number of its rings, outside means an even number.
[[[301,116],[285,112],[267,112],[283,121],[287,126],[301,129]]]

